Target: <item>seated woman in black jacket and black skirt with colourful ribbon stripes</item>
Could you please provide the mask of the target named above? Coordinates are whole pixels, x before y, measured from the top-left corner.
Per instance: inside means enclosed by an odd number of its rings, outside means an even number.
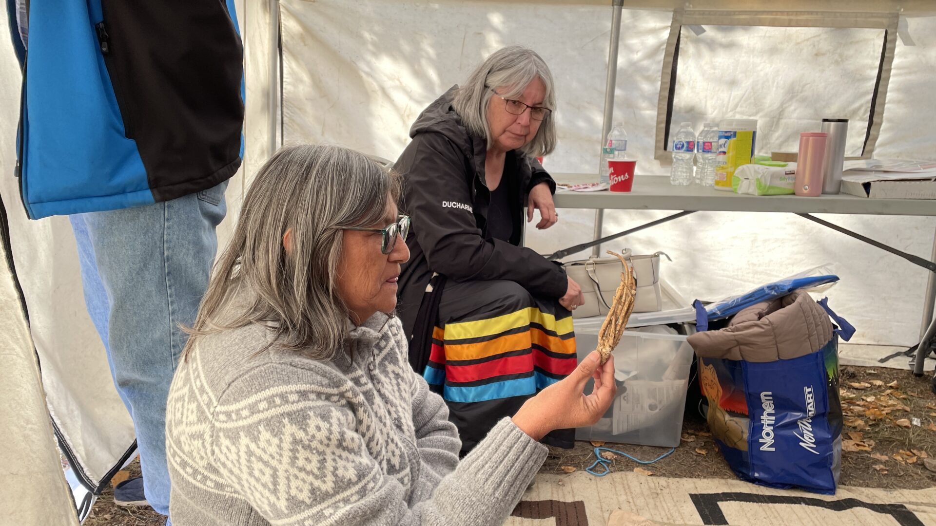
[[[394,165],[413,217],[398,306],[410,365],[448,403],[462,454],[576,367],[581,289],[519,246],[524,205],[537,228],[558,220],[555,183],[535,160],[555,147],[555,104],[538,54],[496,51],[419,115]],[[572,441],[573,430],[544,440]]]

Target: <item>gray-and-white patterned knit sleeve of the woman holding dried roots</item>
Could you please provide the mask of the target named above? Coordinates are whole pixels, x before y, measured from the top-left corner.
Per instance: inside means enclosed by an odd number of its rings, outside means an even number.
[[[386,475],[366,447],[363,433],[380,424],[359,421],[356,391],[325,377],[310,383],[309,373],[257,368],[225,390],[212,419],[219,474],[273,524],[493,526],[546,458],[545,446],[504,418],[431,495],[408,504],[405,476]],[[420,428],[421,440],[440,438]]]

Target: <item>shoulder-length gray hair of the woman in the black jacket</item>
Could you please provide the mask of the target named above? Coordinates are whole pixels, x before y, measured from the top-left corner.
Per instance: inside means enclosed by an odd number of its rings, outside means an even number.
[[[516,98],[523,94],[523,90],[534,79],[539,78],[546,86],[546,98],[543,106],[549,110],[556,109],[556,92],[552,73],[546,62],[536,54],[521,46],[507,46],[494,51],[472,72],[468,80],[462,84],[452,100],[452,108],[461,117],[461,122],[475,135],[488,140],[488,148],[492,144],[490,125],[488,124],[488,103],[493,94],[492,88],[507,98]],[[556,148],[556,124],[550,111],[539,125],[533,140],[520,150],[531,157],[540,157],[552,153]]]

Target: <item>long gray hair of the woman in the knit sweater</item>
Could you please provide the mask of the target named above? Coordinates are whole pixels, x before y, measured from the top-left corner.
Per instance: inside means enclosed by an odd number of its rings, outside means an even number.
[[[348,310],[339,298],[344,226],[372,226],[400,197],[399,176],[330,145],[274,153],[244,197],[234,236],[212,269],[183,357],[198,338],[251,324],[314,359],[337,358]],[[289,251],[283,236],[290,234]]]

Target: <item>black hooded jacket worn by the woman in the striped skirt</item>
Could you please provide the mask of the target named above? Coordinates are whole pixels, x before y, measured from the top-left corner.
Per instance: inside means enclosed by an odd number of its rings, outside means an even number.
[[[539,183],[548,183],[553,193],[556,189],[546,170],[525,153],[508,153],[504,167],[504,181],[520,190],[512,194],[513,236],[509,242],[490,236],[490,190],[484,177],[488,144],[469,132],[452,108],[456,89],[423,110],[410,129],[413,140],[394,165],[403,177],[402,211],[413,218],[397,305],[410,337],[433,272],[459,282],[509,280],[547,298],[562,298],[568,287],[560,265],[519,246],[530,189]]]

